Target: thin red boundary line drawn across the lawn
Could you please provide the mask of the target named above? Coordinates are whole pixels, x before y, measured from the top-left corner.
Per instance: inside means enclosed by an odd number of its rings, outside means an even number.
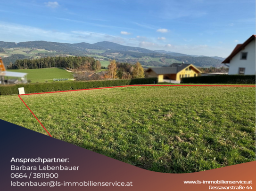
[[[108,88],[121,88],[121,87],[131,87],[131,86],[215,86],[215,87],[256,87],[255,85],[123,85],[123,86],[114,86],[114,87],[102,87],[102,88],[90,88],[90,89],[83,89],[83,90],[97,90],[97,89],[108,89]],[[83,91],[83,90],[66,90],[66,91],[58,91],[58,92],[42,92],[42,93],[28,93],[23,95],[18,95],[18,97],[21,99],[20,96],[25,95],[34,95],[34,94],[44,94],[44,93],[59,93],[59,92],[74,92],[74,91]],[[21,99],[22,102],[25,104],[23,99]],[[25,104],[25,106],[29,109],[29,111],[33,114],[31,109]],[[34,114],[33,114],[34,115]],[[36,120],[41,124],[41,126],[45,129],[45,127],[42,125],[42,123],[37,119],[37,117],[34,115]],[[46,130],[46,132],[50,135],[50,133]],[[50,135],[50,137],[52,137]]]

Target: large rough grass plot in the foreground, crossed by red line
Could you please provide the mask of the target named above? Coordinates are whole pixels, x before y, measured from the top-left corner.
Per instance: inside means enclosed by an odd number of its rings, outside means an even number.
[[[54,138],[157,172],[255,160],[255,87],[124,87],[23,96]],[[47,134],[18,96],[1,119]]]

